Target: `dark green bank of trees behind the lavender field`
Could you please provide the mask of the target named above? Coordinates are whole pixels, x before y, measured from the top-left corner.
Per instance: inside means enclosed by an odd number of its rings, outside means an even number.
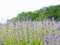
[[[22,12],[18,14],[17,17],[12,18],[11,20],[16,22],[18,20],[18,17],[20,20],[23,20],[26,16],[28,16],[28,20],[43,20],[51,19],[54,17],[56,21],[60,20],[60,5],[56,6],[49,6],[49,7],[43,7],[42,9],[36,10],[34,12]]]

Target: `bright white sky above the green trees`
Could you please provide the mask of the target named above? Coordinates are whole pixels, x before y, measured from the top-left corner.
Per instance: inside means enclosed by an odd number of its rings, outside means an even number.
[[[0,0],[0,22],[6,22],[23,11],[34,11],[45,6],[60,4],[60,0]]]

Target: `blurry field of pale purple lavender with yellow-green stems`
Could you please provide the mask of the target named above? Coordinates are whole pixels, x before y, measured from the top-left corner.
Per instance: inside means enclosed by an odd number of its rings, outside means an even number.
[[[0,45],[60,45],[60,22],[45,20],[0,24]]]

